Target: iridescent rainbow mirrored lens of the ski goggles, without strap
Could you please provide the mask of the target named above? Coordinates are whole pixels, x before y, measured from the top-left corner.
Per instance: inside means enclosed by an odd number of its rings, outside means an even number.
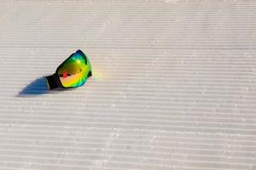
[[[91,75],[90,61],[81,50],[78,50],[61,64],[57,69],[57,75],[64,88],[82,86]]]

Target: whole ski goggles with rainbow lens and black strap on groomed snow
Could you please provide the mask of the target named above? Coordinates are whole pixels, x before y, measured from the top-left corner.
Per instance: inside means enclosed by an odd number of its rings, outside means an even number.
[[[78,88],[84,85],[87,78],[91,76],[90,61],[79,49],[58,66],[55,74],[45,77],[45,79],[51,90],[54,88]]]

